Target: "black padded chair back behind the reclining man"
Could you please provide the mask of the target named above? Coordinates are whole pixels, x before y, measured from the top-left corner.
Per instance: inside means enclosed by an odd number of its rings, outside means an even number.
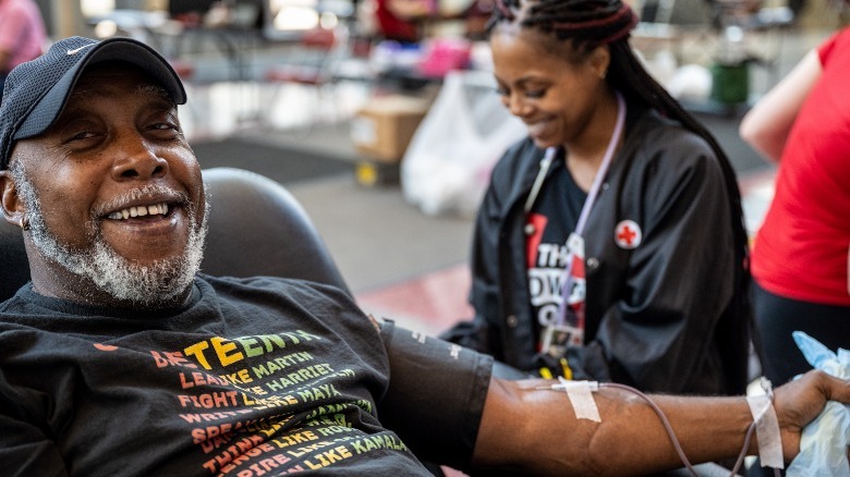
[[[282,185],[233,168],[203,174],[210,205],[203,272],[301,278],[349,292],[313,222]],[[21,229],[0,220],[0,302],[27,281]]]

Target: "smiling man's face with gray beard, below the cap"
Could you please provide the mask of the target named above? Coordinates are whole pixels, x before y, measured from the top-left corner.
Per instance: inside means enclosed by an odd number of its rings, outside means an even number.
[[[123,306],[185,299],[201,262],[205,215],[199,167],[171,99],[184,93],[111,61],[77,80],[62,115],[38,140],[17,143],[10,173],[19,203],[10,217],[31,229],[29,256],[40,273],[35,291],[45,296]],[[38,127],[31,123],[39,118],[31,115],[19,131]],[[57,210],[63,212],[45,213]]]

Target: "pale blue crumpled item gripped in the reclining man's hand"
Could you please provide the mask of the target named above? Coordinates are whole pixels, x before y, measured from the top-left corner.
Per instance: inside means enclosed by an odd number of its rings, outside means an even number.
[[[838,348],[836,354],[802,331],[794,331],[792,335],[805,359],[815,369],[837,378],[850,379],[850,351]],[[786,469],[786,476],[850,476],[848,444],[850,406],[829,402],[821,415],[803,429],[800,454]]]

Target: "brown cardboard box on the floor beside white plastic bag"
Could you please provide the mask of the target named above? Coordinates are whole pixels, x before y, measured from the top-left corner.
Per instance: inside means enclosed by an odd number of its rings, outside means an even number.
[[[425,98],[388,95],[369,100],[351,122],[351,140],[366,157],[399,162],[430,107]]]

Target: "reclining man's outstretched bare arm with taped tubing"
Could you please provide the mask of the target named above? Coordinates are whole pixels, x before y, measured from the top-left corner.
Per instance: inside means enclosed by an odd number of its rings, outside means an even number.
[[[473,464],[533,475],[644,475],[681,467],[658,416],[645,401],[617,389],[594,393],[600,423],[576,419],[554,381],[494,379],[484,404]],[[744,397],[653,396],[692,464],[734,458],[753,421]],[[850,382],[812,371],[775,391],[782,455],[800,452],[802,428],[827,400],[850,402]],[[753,433],[749,454],[757,452]]]

